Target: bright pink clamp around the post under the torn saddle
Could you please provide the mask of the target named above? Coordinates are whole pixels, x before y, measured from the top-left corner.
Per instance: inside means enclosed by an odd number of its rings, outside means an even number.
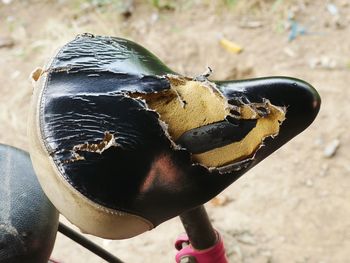
[[[177,263],[180,263],[180,260],[183,257],[194,257],[198,263],[228,263],[224,242],[219,233],[217,243],[211,248],[205,250],[196,250],[191,244],[181,248],[182,243],[190,243],[186,234],[180,235],[175,242],[175,247],[179,250],[175,257]]]

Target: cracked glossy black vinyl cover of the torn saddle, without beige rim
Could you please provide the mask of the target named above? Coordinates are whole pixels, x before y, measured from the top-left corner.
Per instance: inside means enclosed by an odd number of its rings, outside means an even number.
[[[317,92],[293,78],[213,81],[229,103],[269,101],[284,107],[286,115],[278,135],[266,138],[253,158],[222,171],[208,169],[193,162],[191,154],[239,141],[255,123],[232,126],[224,120],[207,128],[210,133],[198,131],[206,137],[197,144],[190,142],[197,131],[189,132],[187,142],[180,137],[180,143],[193,145],[193,152],[190,146],[174,146],[179,141],[169,139],[159,115],[147,108],[145,99],[132,95],[170,89],[166,75],[177,74],[136,43],[81,35],[45,69],[37,104],[40,140],[59,177],[93,203],[139,216],[153,226],[217,195],[308,127],[320,106]],[[225,127],[237,133],[220,139]]]

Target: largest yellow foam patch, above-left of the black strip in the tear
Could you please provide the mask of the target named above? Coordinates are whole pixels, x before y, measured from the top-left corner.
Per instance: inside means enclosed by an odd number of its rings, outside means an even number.
[[[183,133],[221,121],[230,113],[225,98],[217,90],[198,81],[170,79],[171,89],[156,94],[130,94],[146,100],[168,125],[176,141]]]

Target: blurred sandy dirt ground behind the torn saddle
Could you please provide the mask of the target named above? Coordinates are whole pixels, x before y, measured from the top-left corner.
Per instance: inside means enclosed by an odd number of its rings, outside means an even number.
[[[0,142],[28,149],[28,76],[78,33],[132,39],[188,76],[303,79],[322,97],[316,121],[206,207],[230,262],[350,262],[350,1],[157,2],[0,1]],[[126,262],[174,262],[182,231],[175,218],[129,240],[91,238]],[[52,257],[103,262],[60,234]]]

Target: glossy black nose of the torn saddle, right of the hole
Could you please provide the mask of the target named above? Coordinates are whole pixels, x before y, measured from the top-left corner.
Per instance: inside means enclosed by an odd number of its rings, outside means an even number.
[[[285,116],[278,136],[274,136],[273,140],[267,138],[264,147],[255,156],[257,162],[305,130],[316,118],[321,105],[321,98],[315,88],[300,79],[268,77],[215,83],[233,104],[237,104],[237,100],[248,103],[268,100],[272,105],[284,109]]]

